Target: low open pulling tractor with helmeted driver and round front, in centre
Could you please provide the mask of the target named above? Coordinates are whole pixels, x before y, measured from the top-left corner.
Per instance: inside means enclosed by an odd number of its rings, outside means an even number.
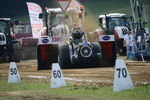
[[[69,41],[58,46],[58,62],[61,68],[99,67],[101,46],[98,42],[88,42],[84,29],[73,27]]]

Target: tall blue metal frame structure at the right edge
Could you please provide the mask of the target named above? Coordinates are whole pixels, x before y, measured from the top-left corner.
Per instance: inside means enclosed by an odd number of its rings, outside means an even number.
[[[130,27],[134,37],[134,47],[127,56],[135,61],[150,61],[150,49],[146,42],[145,24],[147,23],[143,0],[130,0],[132,17]],[[135,15],[138,15],[136,18]],[[142,21],[143,20],[143,21]]]

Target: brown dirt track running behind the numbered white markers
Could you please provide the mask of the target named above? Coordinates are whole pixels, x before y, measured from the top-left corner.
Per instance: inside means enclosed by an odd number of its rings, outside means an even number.
[[[150,63],[125,60],[134,85],[150,85]],[[36,60],[17,63],[22,80],[50,82],[51,70],[37,70]],[[9,63],[0,64],[0,80],[8,79]],[[91,86],[113,86],[114,67],[62,69],[67,83]]]

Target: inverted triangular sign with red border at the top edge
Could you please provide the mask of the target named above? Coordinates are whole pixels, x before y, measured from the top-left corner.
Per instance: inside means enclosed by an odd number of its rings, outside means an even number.
[[[58,5],[62,9],[63,13],[66,12],[72,0],[57,0]]]

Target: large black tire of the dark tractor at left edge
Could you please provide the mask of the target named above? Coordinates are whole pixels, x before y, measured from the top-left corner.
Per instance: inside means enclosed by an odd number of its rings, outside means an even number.
[[[11,62],[20,62],[21,60],[21,46],[18,42],[12,43],[12,55],[10,57]]]

